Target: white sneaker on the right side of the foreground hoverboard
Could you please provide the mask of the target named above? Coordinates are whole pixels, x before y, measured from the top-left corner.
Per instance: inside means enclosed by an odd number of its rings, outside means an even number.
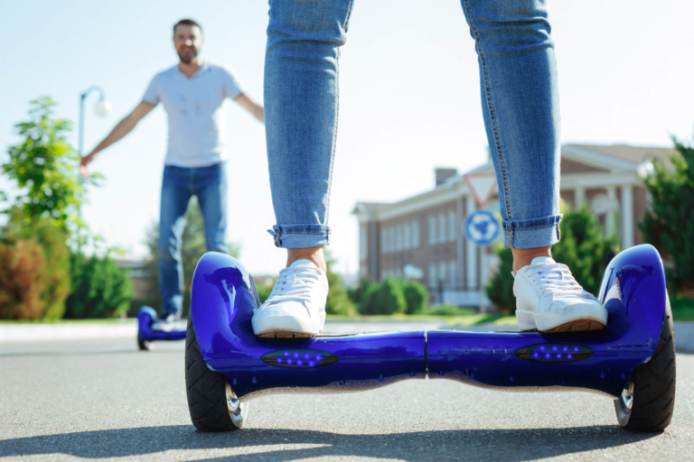
[[[513,295],[521,330],[574,332],[607,324],[605,307],[583,290],[566,264],[549,256],[533,258],[515,274]]]

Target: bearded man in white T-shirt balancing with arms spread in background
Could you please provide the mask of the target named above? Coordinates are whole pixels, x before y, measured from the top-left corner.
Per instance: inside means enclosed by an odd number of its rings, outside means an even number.
[[[168,115],[169,135],[164,160],[159,216],[159,288],[162,296],[160,328],[180,319],[183,310],[181,246],[185,211],[196,196],[205,226],[208,251],[227,254],[227,176],[224,100],[229,97],[264,122],[263,107],[245,94],[239,79],[224,67],[203,61],[202,27],[191,19],[174,24],[174,47],[179,62],[155,75],[142,102],[110,134],[82,158],[80,171],[98,152],[135,128],[159,102]]]

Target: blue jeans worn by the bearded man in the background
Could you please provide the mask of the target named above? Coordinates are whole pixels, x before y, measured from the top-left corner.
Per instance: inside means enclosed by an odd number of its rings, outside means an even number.
[[[159,290],[162,316],[183,310],[183,261],[181,245],[185,210],[192,196],[198,198],[205,244],[212,252],[229,253],[227,236],[226,164],[186,169],[166,165],[162,180],[162,208],[159,214]]]

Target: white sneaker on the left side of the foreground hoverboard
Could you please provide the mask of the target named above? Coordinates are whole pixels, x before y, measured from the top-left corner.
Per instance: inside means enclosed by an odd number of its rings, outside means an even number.
[[[297,260],[279,272],[263,306],[253,314],[258,337],[314,337],[325,324],[328,278],[310,260]]]

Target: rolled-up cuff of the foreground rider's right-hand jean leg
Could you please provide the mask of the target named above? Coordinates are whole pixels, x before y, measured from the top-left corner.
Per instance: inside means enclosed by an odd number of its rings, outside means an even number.
[[[517,249],[555,245],[561,238],[559,222],[562,217],[559,214],[527,220],[503,220],[503,245]]]

